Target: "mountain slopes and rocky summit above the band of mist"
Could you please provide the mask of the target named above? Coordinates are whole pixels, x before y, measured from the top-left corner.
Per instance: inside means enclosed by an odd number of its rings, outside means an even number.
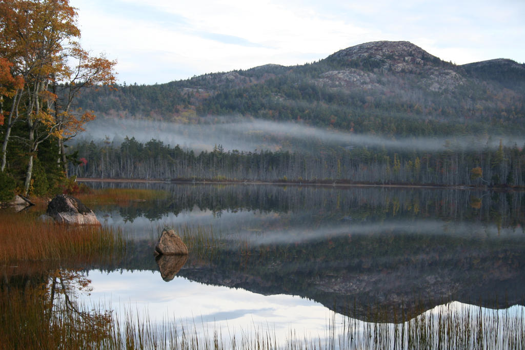
[[[306,65],[265,65],[153,86],[93,89],[78,107],[182,123],[237,115],[388,136],[525,131],[525,65],[455,65],[408,41],[352,46]]]

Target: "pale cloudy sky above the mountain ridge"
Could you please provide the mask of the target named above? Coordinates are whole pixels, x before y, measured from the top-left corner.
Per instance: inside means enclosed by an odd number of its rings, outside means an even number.
[[[525,62],[525,1],[70,0],[82,47],[118,61],[119,83],[154,84],[267,63],[301,65],[407,40],[458,65]]]

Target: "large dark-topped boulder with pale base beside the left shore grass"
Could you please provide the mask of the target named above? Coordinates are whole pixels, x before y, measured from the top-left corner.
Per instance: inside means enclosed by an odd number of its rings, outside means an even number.
[[[46,214],[62,224],[100,225],[95,213],[80,200],[68,195],[58,195],[47,205]]]

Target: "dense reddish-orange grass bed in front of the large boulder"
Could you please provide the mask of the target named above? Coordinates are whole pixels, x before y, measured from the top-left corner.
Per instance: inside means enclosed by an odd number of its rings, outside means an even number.
[[[125,250],[121,229],[46,222],[33,213],[0,210],[0,264],[22,260],[91,260]]]

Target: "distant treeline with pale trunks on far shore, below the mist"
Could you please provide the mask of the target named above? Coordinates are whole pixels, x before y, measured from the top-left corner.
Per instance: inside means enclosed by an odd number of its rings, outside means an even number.
[[[500,143],[496,150],[397,151],[385,147],[325,147],[317,153],[289,151],[195,153],[162,141],[145,144],[126,137],[113,143],[70,147],[80,161],[70,174],[94,178],[234,181],[344,181],[375,184],[523,186],[525,152]]]

